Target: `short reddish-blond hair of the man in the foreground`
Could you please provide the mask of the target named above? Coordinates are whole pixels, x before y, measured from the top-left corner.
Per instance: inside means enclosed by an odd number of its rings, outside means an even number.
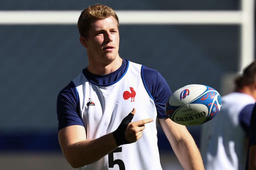
[[[91,23],[97,19],[105,19],[110,16],[115,18],[117,27],[119,27],[118,17],[112,8],[102,4],[95,4],[85,8],[77,22],[80,36],[88,38],[88,30]]]

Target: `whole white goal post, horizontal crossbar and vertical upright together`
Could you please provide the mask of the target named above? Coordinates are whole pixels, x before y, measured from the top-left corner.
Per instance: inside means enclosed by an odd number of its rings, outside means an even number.
[[[0,11],[0,25],[73,25],[81,11]],[[238,72],[254,60],[254,0],[241,0],[237,11],[131,11],[116,10],[123,25],[240,25]]]

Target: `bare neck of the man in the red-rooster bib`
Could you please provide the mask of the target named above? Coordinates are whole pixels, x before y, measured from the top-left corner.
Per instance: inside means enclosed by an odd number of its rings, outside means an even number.
[[[121,67],[123,59],[119,57],[119,55],[112,61],[99,63],[99,62],[90,62],[87,66],[87,70],[92,74],[96,75],[104,75],[109,74],[116,71],[119,67]]]

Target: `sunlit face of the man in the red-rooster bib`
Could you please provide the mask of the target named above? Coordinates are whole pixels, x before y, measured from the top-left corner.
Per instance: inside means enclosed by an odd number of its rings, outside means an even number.
[[[119,32],[115,18],[110,16],[92,22],[85,42],[88,59],[100,63],[113,61],[119,49]]]

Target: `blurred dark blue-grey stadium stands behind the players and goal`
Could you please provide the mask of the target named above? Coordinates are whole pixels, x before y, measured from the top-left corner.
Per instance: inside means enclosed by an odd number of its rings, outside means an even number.
[[[82,11],[102,3],[117,11],[204,10],[221,14],[241,12],[245,1],[248,15],[243,11],[233,23],[122,24],[119,16],[122,58],[158,70],[173,92],[187,84],[205,84],[221,95],[232,91],[232,78],[254,59],[253,0],[0,1],[0,169],[72,169],[58,144],[56,98],[87,65],[75,24],[17,24],[10,22],[8,12]],[[19,13],[14,19],[23,21],[24,16]],[[74,23],[78,17],[79,13]],[[129,17],[136,21],[136,16]],[[244,35],[246,40],[241,36],[245,26],[241,23],[253,29]],[[187,128],[200,147],[200,126]],[[182,169],[160,127],[158,131],[163,170]]]

